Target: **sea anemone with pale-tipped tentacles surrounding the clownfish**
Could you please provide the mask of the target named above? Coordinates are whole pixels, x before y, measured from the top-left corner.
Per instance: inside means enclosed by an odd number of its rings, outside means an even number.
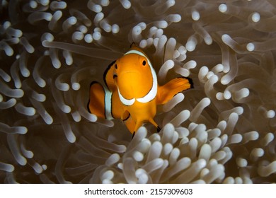
[[[1,0],[0,182],[276,181],[274,0]],[[135,42],[160,84],[192,78],[132,134],[86,108]]]

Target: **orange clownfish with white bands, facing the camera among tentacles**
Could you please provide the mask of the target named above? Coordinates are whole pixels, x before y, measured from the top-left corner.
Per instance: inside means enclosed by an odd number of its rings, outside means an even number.
[[[90,85],[88,112],[107,119],[121,119],[133,134],[144,124],[154,124],[156,106],[167,103],[174,95],[192,88],[191,78],[174,78],[159,86],[149,57],[136,45],[104,72],[105,86],[93,81]]]

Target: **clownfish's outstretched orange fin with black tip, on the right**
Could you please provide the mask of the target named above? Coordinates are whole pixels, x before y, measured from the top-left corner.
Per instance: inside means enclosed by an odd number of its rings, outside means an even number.
[[[165,85],[159,86],[156,103],[157,105],[165,104],[171,100],[174,95],[189,88],[193,88],[191,78],[174,78]]]

